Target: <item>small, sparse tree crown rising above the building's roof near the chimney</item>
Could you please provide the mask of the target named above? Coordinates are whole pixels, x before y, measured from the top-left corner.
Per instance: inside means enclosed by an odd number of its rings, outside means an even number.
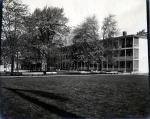
[[[101,29],[103,39],[118,35],[119,29],[117,26],[117,21],[115,20],[115,15],[110,14],[108,17],[105,17]]]

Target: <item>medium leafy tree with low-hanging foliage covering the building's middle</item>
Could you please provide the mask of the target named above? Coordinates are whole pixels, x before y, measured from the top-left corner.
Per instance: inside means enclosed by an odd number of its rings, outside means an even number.
[[[96,17],[88,17],[74,29],[72,58],[75,62],[100,62],[103,48],[99,41],[99,27]]]

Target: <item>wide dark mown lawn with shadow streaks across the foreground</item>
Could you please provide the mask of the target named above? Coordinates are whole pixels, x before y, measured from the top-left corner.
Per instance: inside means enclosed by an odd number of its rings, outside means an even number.
[[[148,77],[88,75],[1,78],[6,119],[145,118]]]

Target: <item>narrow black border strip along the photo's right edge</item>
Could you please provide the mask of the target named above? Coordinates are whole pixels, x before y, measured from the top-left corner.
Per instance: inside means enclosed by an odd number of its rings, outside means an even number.
[[[146,0],[146,5],[147,5],[147,40],[148,40],[149,93],[150,93],[150,0]]]

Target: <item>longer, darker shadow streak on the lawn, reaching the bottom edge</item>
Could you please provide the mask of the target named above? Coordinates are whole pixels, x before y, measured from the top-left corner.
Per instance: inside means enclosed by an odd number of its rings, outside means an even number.
[[[10,90],[10,91],[14,92],[15,94],[19,95],[20,97],[22,97],[23,99],[25,99],[27,101],[30,101],[31,103],[36,104],[36,105],[38,105],[38,106],[40,106],[40,107],[56,114],[56,115],[59,115],[63,118],[80,118],[80,119],[84,119],[84,117],[81,117],[81,116],[78,116],[76,114],[73,114],[73,113],[67,112],[65,110],[62,110],[62,109],[58,108],[57,106],[54,106],[54,105],[45,103],[43,101],[40,101],[39,99],[37,99],[35,97],[28,96],[28,95],[24,94],[23,92],[21,92],[20,91],[21,89],[12,89],[12,88],[5,88],[5,89]],[[28,90],[28,92],[29,92],[29,90]]]

